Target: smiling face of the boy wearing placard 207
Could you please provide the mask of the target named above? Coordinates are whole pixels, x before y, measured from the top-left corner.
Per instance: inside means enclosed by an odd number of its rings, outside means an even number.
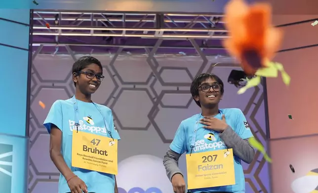
[[[195,96],[194,99],[199,101],[203,107],[213,107],[222,99],[221,87],[222,86],[213,78],[207,78],[199,85],[199,95]]]

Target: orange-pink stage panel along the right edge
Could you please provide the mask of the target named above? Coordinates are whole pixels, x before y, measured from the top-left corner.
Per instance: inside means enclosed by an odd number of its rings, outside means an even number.
[[[318,15],[277,15],[273,19],[281,25],[315,18]],[[311,25],[314,21],[281,27],[285,32],[281,49],[301,49],[278,53],[274,59],[284,64],[291,76],[288,88],[280,77],[267,80],[273,193],[292,193],[299,188],[296,193],[309,193],[318,187],[318,47],[306,48],[318,44],[318,26]]]

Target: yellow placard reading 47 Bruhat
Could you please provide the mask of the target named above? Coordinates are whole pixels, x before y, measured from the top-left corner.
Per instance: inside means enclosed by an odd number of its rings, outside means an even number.
[[[116,175],[117,142],[117,139],[73,130],[72,166]]]

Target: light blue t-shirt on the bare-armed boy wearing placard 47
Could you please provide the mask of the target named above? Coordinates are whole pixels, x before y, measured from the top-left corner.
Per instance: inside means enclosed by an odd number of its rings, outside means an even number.
[[[80,100],[76,101],[79,112],[79,131],[110,137],[110,134],[107,132],[107,129],[109,129],[114,139],[120,139],[119,134],[114,127],[113,114],[110,108],[95,103],[99,107],[100,112],[91,102],[83,102]],[[43,125],[49,133],[51,132],[52,124],[61,129],[61,153],[64,161],[71,168],[74,174],[85,182],[88,192],[114,193],[115,176],[113,174],[72,167],[72,135],[73,130],[76,130],[75,111],[73,105],[72,99],[55,101]],[[106,126],[103,116],[105,117]],[[60,174],[58,190],[59,193],[71,192],[66,179],[62,174]]]

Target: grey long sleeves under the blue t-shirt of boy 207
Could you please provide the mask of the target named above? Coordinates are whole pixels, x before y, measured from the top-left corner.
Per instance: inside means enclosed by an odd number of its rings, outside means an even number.
[[[219,134],[219,137],[228,148],[233,149],[234,155],[236,155],[239,159],[246,163],[251,163],[253,161],[255,155],[253,147],[247,140],[238,136],[238,134],[230,126]],[[180,156],[181,154],[172,151],[170,148],[164,155],[163,165],[170,181],[174,174],[180,173],[182,175],[182,172],[178,167]]]

